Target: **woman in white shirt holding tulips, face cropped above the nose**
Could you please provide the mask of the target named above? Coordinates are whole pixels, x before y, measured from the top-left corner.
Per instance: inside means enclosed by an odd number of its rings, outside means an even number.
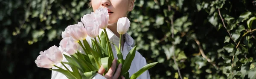
[[[95,12],[98,8],[108,8],[108,14],[109,14],[109,20],[108,20],[108,28],[106,28],[108,33],[108,38],[111,42],[113,42],[115,45],[119,45],[119,34],[116,31],[117,21],[121,17],[126,17],[129,11],[132,11],[134,8],[134,0],[91,0],[90,6],[92,6],[93,11]],[[100,33],[99,33],[100,34]],[[121,40],[121,52],[123,54],[123,58],[125,59],[128,52],[133,48],[134,40],[129,36],[127,33],[124,34]],[[90,40],[89,38],[87,38]],[[113,45],[111,45],[113,50],[113,55],[116,57],[116,50]],[[64,53],[65,54],[65,53]],[[67,62],[67,60],[64,58],[64,62]],[[145,66],[146,60],[145,58],[136,51],[135,57],[131,63],[131,67],[129,69],[130,76],[137,71],[140,70],[143,66]],[[57,64],[57,66],[64,68],[61,64]],[[68,65],[66,65],[68,66]],[[93,79],[118,79],[120,72],[121,72],[122,65],[119,64],[116,69],[116,59],[113,60],[112,66],[109,69],[109,71],[105,74],[105,76],[102,76],[105,69],[103,66],[99,69],[96,76],[93,77]],[[54,69],[55,67],[53,67]],[[71,68],[68,67],[70,70]],[[115,72],[115,73],[114,73]],[[121,76],[122,79],[124,79],[123,76]],[[52,79],[67,79],[66,76],[64,76],[61,73],[58,73],[56,71],[52,71]],[[148,71],[145,71],[143,74],[141,74],[137,79],[150,79]]]

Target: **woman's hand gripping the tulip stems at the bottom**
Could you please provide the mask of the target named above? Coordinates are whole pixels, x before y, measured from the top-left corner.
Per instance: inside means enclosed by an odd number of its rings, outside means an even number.
[[[116,70],[116,59],[113,60],[112,62],[112,65],[111,65],[111,68],[108,70],[108,73],[105,74],[105,78],[107,79],[118,79],[120,73],[121,73],[121,68],[122,68],[122,65],[119,64],[118,67],[117,67],[117,70]],[[116,73],[114,73],[116,70]],[[105,72],[105,69],[103,66],[101,66],[99,68],[99,71],[98,73],[103,75],[103,73]],[[124,76],[121,76],[122,79],[125,79]]]

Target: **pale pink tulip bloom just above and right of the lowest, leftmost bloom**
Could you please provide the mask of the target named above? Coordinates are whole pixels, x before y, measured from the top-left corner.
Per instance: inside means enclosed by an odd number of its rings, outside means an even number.
[[[78,50],[78,43],[75,42],[73,39],[70,37],[66,37],[61,40],[60,46],[64,52],[67,54],[73,55],[76,53]]]

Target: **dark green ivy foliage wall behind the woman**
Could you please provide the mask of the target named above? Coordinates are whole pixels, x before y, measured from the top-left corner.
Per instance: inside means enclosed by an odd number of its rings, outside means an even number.
[[[34,61],[88,2],[0,0],[0,76],[50,79]],[[180,78],[174,59],[183,79],[256,79],[256,0],[137,0],[128,18],[151,79]]]

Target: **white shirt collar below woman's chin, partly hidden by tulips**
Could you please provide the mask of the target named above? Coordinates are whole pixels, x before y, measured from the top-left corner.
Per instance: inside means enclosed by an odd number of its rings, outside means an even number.
[[[101,32],[104,31],[103,29],[100,29],[99,34],[101,34]],[[119,41],[119,37],[117,37],[110,29],[106,28],[106,31],[108,33],[108,39],[109,40],[118,40]],[[124,34],[124,40],[125,42],[128,43],[129,46],[134,46],[134,39],[127,33]]]

